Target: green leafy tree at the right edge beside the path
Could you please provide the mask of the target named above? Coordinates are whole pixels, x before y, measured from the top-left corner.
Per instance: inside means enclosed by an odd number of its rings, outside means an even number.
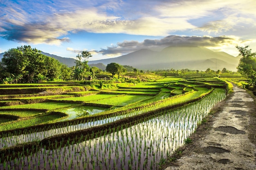
[[[256,87],[256,52],[252,53],[252,49],[249,49],[249,46],[236,46],[236,48],[239,51],[239,55],[242,56],[237,66],[238,73],[249,79],[249,83]]]

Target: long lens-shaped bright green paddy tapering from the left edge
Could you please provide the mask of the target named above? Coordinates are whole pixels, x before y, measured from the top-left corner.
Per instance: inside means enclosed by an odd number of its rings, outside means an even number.
[[[54,110],[58,108],[68,108],[74,107],[78,104],[72,103],[56,103],[56,102],[42,102],[42,103],[33,103],[33,104],[22,104],[22,105],[14,105],[14,106],[2,106],[0,108],[26,108],[26,109],[47,109]]]

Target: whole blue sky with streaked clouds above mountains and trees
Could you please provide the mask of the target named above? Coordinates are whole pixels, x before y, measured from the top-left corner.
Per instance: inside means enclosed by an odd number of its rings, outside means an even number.
[[[0,53],[30,45],[100,60],[140,49],[256,52],[256,0],[0,0]]]

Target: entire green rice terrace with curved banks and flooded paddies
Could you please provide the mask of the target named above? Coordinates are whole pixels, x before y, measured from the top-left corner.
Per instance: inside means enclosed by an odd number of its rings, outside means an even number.
[[[230,86],[216,77],[2,84],[0,170],[159,169]]]

